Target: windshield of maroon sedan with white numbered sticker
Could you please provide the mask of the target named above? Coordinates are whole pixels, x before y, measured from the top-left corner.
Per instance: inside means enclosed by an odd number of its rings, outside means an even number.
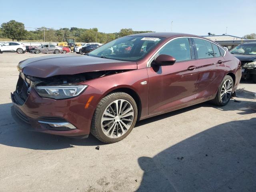
[[[126,36],[104,44],[88,55],[121,61],[138,61],[163,39],[161,37]]]

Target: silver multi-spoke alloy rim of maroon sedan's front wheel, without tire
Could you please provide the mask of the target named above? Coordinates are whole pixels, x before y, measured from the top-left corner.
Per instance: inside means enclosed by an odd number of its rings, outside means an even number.
[[[103,133],[109,138],[118,138],[124,135],[134,120],[134,108],[124,99],[112,102],[104,110],[101,118]]]

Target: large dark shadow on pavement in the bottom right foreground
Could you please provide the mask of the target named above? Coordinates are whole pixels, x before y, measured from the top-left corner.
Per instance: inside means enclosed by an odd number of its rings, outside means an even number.
[[[256,191],[255,136],[256,118],[231,121],[142,156],[136,192]]]

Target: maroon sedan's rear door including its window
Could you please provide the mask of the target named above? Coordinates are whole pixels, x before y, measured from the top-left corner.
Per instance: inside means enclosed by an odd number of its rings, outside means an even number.
[[[195,98],[195,101],[198,101],[216,93],[225,74],[225,64],[216,44],[201,38],[192,38],[192,42],[198,68]]]

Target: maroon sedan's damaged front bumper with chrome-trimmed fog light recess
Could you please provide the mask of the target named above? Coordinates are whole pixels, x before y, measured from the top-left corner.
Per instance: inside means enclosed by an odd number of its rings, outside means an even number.
[[[14,104],[12,116],[16,122],[26,125],[30,130],[86,138],[90,133],[92,116],[101,95],[102,92],[89,86],[77,97],[54,100],[40,97],[34,88],[31,88],[24,104],[20,104],[15,91],[11,94]],[[94,96],[93,100],[85,108],[91,96]]]

